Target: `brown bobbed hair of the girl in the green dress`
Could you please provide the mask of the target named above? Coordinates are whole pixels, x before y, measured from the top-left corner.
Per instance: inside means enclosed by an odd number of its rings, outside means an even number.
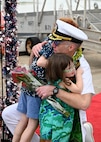
[[[72,58],[64,53],[54,53],[48,58],[46,67],[46,78],[51,83],[58,79],[63,80],[65,68],[73,62]]]

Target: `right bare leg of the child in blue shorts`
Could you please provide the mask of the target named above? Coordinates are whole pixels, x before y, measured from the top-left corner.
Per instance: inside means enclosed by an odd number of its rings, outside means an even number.
[[[20,142],[30,142],[37,127],[38,119],[29,118],[27,127],[21,136]]]

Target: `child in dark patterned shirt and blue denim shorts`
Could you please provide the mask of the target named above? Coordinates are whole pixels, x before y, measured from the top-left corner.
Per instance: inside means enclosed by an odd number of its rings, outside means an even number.
[[[51,43],[50,43],[51,44]],[[40,51],[40,55],[48,58],[53,54],[53,49],[48,43]],[[34,70],[37,77],[46,82],[45,68],[37,66],[38,57],[30,55],[30,70]],[[31,63],[32,62],[32,63]],[[12,142],[30,142],[32,136],[38,126],[39,109],[41,99],[37,96],[35,91],[29,91],[22,86],[21,95],[18,102],[17,110],[22,113],[22,117],[15,129]]]

